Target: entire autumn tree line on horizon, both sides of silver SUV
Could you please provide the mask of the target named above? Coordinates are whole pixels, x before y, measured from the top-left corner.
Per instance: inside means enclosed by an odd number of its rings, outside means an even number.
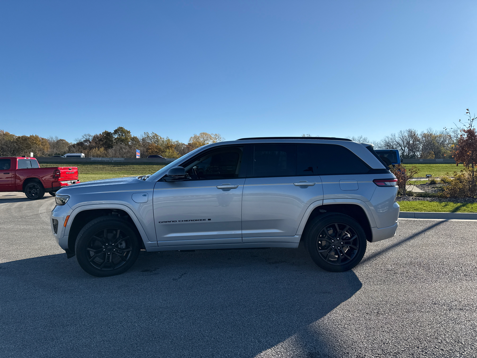
[[[363,136],[350,139],[372,143],[376,149],[398,149],[403,159],[443,159],[452,158],[459,134],[456,128],[440,131],[428,128],[421,133],[415,129],[406,129],[381,140],[370,140]],[[311,135],[304,134],[303,137]],[[15,136],[0,130],[0,156],[29,156],[33,152],[37,157],[84,153],[85,157],[135,158],[136,149],[139,149],[142,158],[152,154],[179,158],[198,147],[223,140],[225,139],[219,134],[202,132],[194,134],[186,144],[169,137],[161,137],[155,132],[144,132],[139,137],[132,136],[131,131],[120,126],[112,132],[105,130],[94,135],[84,134],[69,143],[58,137]]]

